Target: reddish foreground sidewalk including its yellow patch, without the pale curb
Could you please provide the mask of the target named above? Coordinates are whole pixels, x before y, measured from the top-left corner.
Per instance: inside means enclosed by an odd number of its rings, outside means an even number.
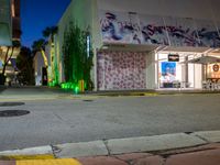
[[[59,160],[0,161],[0,165],[219,165],[220,143],[158,153]]]

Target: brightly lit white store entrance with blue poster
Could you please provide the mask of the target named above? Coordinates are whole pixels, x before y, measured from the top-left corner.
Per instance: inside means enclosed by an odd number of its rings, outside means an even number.
[[[160,53],[157,54],[160,89],[195,89],[201,88],[202,66],[189,64],[196,53]],[[174,57],[174,58],[170,58]]]

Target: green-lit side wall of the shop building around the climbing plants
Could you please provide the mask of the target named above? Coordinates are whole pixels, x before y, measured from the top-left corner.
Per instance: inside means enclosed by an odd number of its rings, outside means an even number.
[[[64,34],[65,31],[68,29],[69,22],[75,22],[81,30],[90,31],[91,35],[91,43],[92,48],[95,52],[96,59],[96,48],[100,47],[101,42],[101,33],[100,33],[100,25],[98,22],[98,10],[97,10],[97,1],[96,0],[72,0],[70,4],[68,6],[67,10],[63,14],[62,19],[58,22],[58,34],[56,40],[56,54],[58,57],[59,64],[59,72],[62,73],[61,81],[65,80],[64,72],[62,68],[62,56],[63,56],[63,44],[64,44]],[[92,80],[96,80],[96,61],[94,61],[94,70],[91,73]]]

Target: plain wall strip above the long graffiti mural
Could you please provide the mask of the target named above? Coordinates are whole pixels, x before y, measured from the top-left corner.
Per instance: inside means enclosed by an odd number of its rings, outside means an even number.
[[[208,20],[215,15],[220,21],[219,0],[98,0],[98,4],[109,11]]]

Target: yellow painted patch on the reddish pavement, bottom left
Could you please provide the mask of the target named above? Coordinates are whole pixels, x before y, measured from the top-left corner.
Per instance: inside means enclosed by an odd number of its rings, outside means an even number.
[[[18,161],[16,165],[81,165],[74,158]]]

